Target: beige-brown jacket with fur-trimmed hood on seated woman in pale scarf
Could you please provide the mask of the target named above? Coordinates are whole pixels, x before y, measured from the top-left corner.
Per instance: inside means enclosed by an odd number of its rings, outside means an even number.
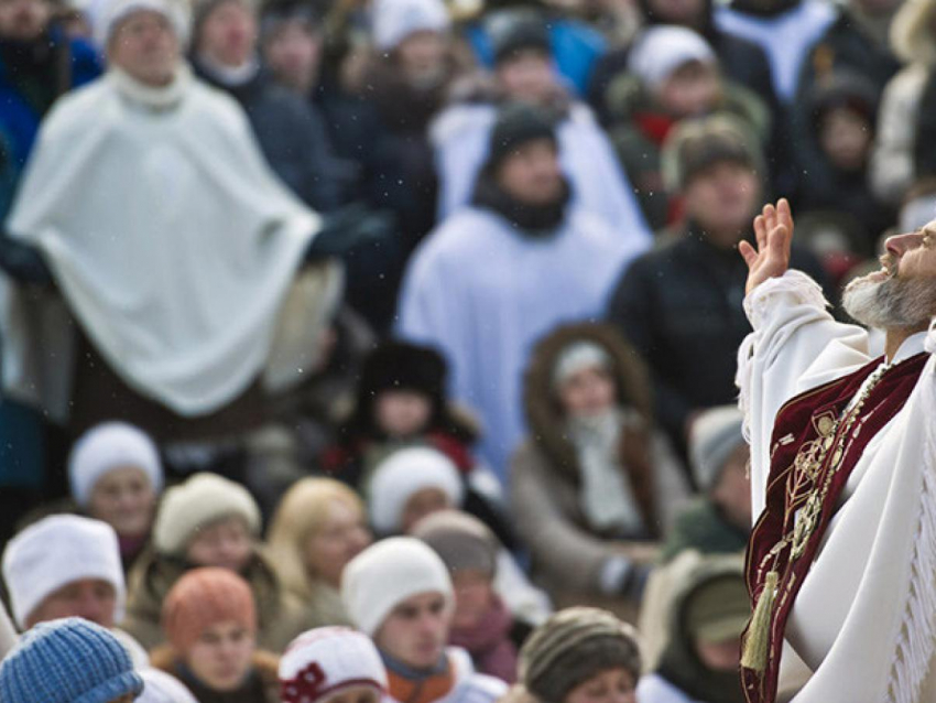
[[[633,411],[634,421],[622,431],[620,463],[643,519],[641,537],[664,532],[687,493],[678,464],[653,430],[649,382],[636,353],[612,329],[595,324],[565,326],[544,338],[526,371],[530,434],[513,457],[511,504],[518,532],[532,552],[534,575],[557,602],[564,592],[596,594],[611,556],[652,553],[645,543],[595,533],[580,507],[581,468],[552,391],[558,355],[578,340],[598,344],[610,355],[619,401]]]

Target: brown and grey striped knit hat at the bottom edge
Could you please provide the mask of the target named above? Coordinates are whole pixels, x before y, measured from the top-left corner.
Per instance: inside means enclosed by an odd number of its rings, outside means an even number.
[[[608,669],[640,677],[636,630],[611,613],[574,607],[559,610],[520,650],[520,681],[543,703],[558,703],[578,684]]]

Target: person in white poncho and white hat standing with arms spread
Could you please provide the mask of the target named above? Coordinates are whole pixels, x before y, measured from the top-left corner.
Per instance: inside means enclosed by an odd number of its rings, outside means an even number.
[[[323,266],[294,299],[335,232],[273,175],[240,107],[193,78],[187,22],[176,0],[102,9],[108,72],[53,107],[4,225],[58,289],[0,282],[4,389],[74,432],[111,417],[156,439],[249,429],[261,387],[311,370],[314,334],[281,345],[286,302],[314,326],[340,293]]]

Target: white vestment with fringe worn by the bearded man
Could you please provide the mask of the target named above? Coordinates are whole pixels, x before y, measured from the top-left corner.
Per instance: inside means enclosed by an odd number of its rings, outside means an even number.
[[[832,320],[798,271],[744,301],[754,328],[738,383],[751,443],[753,515],[764,507],[771,434],[795,394],[868,364],[864,329]],[[906,339],[892,363],[936,352],[936,327]],[[786,625],[812,670],[795,703],[936,701],[936,360],[851,474]],[[793,657],[784,656],[781,682]]]

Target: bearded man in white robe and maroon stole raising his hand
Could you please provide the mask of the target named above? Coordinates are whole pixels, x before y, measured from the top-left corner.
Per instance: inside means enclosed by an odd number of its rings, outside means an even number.
[[[738,382],[751,443],[749,702],[936,700],[936,220],[845,294],[787,270],[793,218],[755,220]],[[927,332],[928,331],[928,332]]]

